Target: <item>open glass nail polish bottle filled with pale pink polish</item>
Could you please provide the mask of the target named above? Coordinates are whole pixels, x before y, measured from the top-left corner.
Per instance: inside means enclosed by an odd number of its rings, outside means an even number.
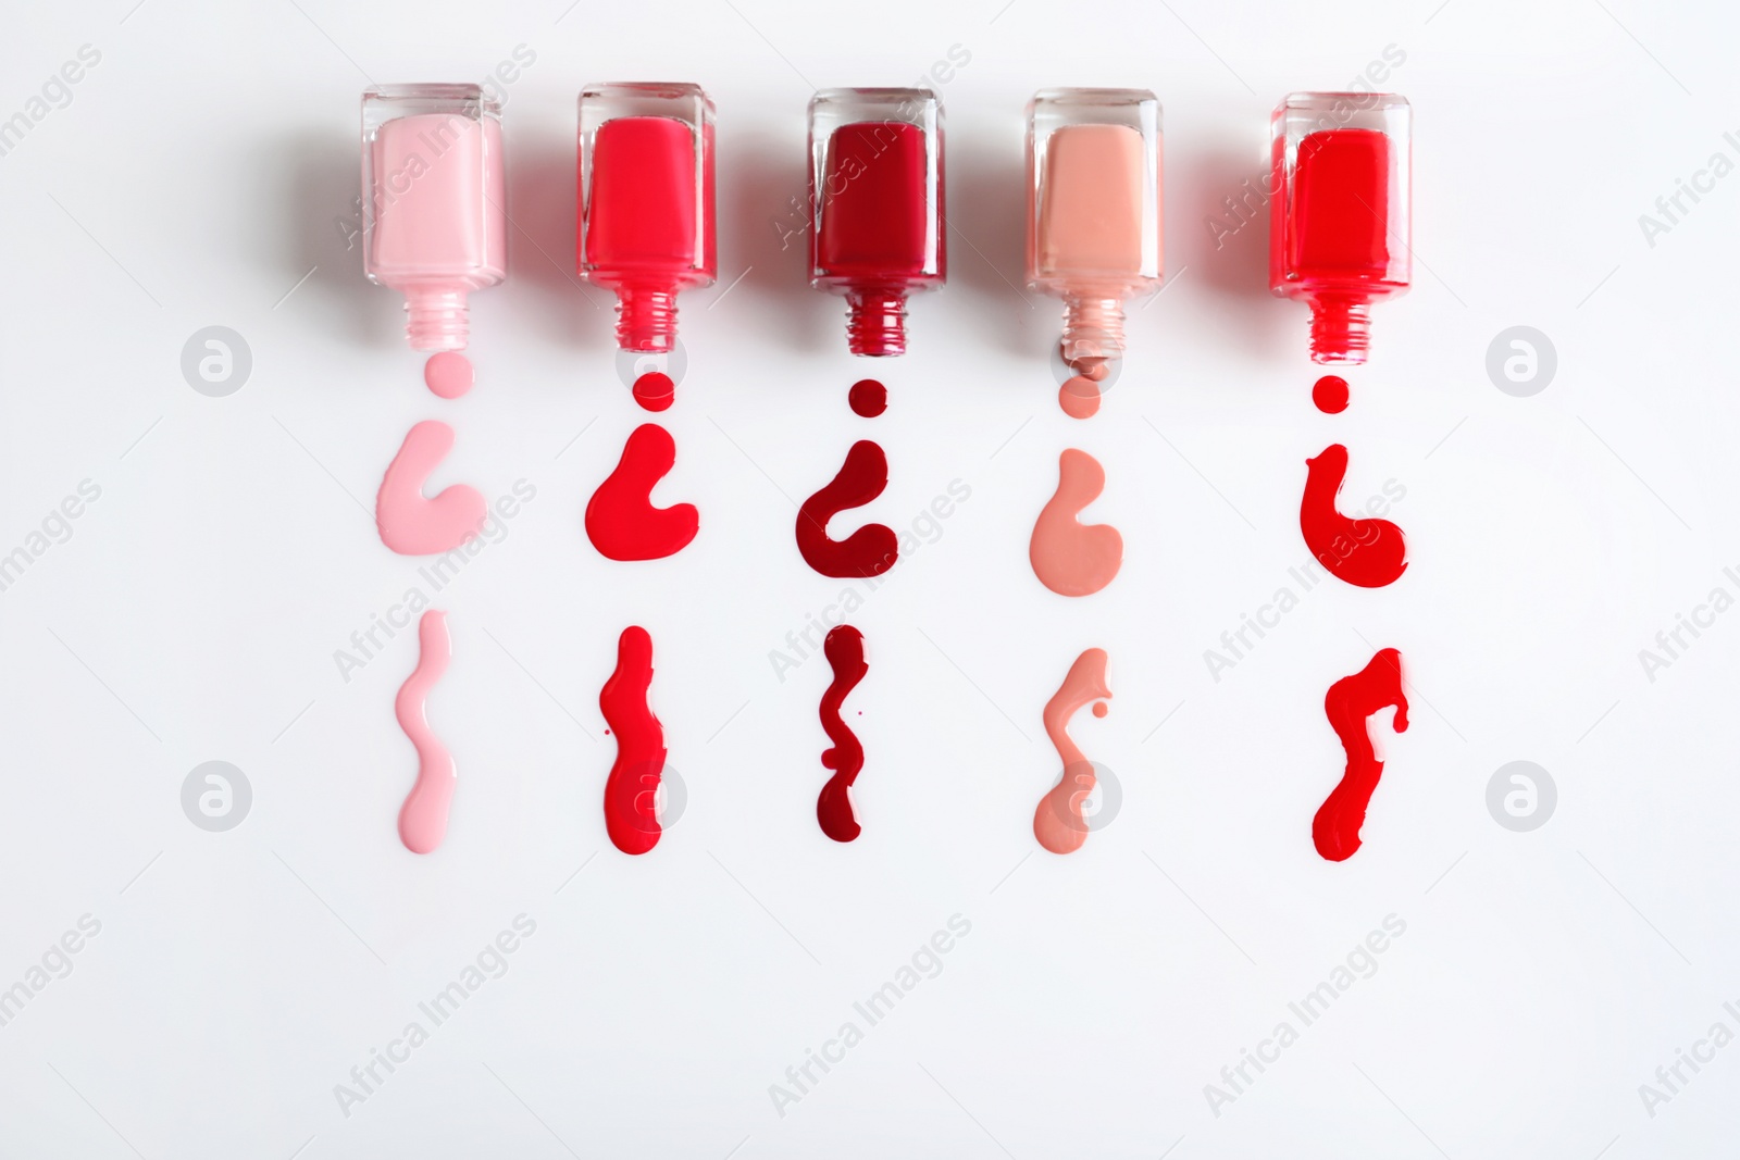
[[[364,273],[405,296],[419,351],[459,351],[466,296],[508,273],[501,106],[477,85],[362,94]]]

